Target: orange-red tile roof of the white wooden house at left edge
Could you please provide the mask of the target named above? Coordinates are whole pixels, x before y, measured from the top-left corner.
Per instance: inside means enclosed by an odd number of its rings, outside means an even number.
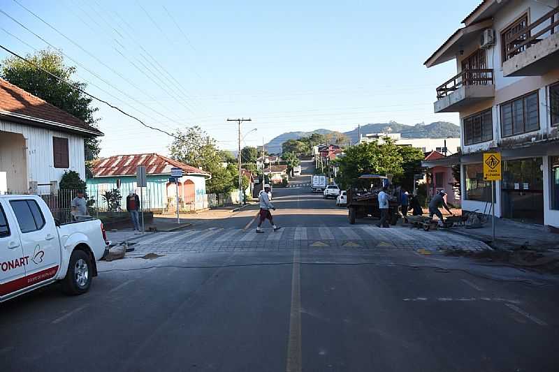
[[[66,126],[59,128],[61,131],[87,131],[89,135],[103,135],[99,129],[3,79],[0,79],[0,116],[7,120],[25,121],[31,125],[37,123],[41,126]]]

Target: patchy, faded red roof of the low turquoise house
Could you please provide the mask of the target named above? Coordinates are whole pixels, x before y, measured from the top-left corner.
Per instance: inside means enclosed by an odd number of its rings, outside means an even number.
[[[133,176],[136,167],[145,165],[147,174],[170,174],[170,168],[181,168],[187,175],[210,176],[204,170],[159,154],[115,155],[101,158],[93,164],[93,177]]]

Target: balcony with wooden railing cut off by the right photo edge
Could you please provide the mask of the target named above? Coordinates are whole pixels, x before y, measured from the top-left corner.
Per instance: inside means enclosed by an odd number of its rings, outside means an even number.
[[[507,37],[504,76],[539,76],[559,66],[559,7]]]

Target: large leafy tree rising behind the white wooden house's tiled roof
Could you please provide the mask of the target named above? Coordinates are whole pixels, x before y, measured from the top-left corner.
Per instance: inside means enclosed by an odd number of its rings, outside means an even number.
[[[53,75],[70,82],[72,86],[60,82],[43,70],[31,66],[17,57],[8,57],[0,62],[1,77],[68,114],[72,114],[85,124],[96,127],[99,119],[96,119],[94,114],[99,108],[92,105],[92,98],[75,89],[85,90],[87,88],[85,82],[73,80],[75,67],[66,66],[64,57],[59,52],[49,49],[41,50],[36,54],[27,54],[27,59]],[[84,144],[85,161],[89,166],[91,161],[99,157],[100,142],[97,138],[92,137],[86,138]]]

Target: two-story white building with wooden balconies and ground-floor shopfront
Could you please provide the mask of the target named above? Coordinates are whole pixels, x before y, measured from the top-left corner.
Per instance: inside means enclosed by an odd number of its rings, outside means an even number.
[[[460,115],[462,207],[491,202],[499,151],[495,215],[559,227],[559,1],[485,0],[462,23],[425,62],[456,62],[434,106]]]

